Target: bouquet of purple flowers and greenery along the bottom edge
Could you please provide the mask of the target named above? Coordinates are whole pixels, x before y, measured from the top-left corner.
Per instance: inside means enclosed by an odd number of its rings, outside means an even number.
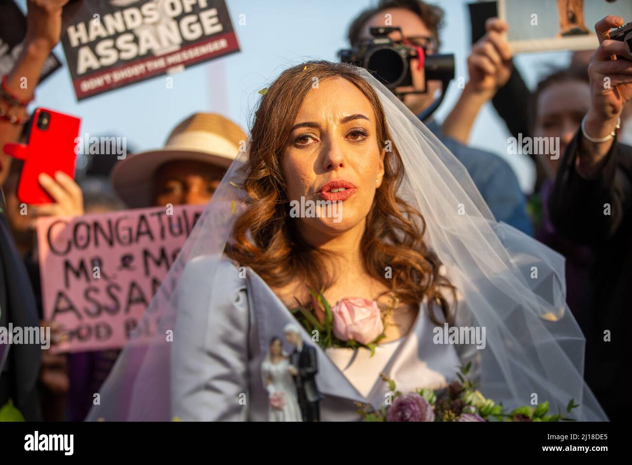
[[[567,416],[578,404],[570,400],[564,414],[549,414],[549,402],[538,406],[521,406],[504,412],[501,404],[485,399],[465,376],[471,363],[460,368],[459,381],[439,390],[418,389],[402,394],[395,381],[382,373],[382,380],[389,383],[392,402],[379,411],[371,406],[356,402],[363,421],[574,421]]]

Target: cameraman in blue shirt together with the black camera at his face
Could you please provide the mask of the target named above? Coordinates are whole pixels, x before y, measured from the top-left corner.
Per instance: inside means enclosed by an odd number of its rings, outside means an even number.
[[[375,71],[376,77],[463,163],[495,218],[531,235],[525,195],[509,164],[495,154],[447,137],[428,116],[454,77],[453,56],[437,54],[443,15],[441,8],[421,0],[380,0],[349,26],[351,50],[341,51],[341,59]],[[435,101],[439,90],[441,99]]]

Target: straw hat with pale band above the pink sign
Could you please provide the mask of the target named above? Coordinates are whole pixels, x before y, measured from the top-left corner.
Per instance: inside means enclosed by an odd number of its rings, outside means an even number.
[[[149,207],[155,172],[163,164],[193,160],[228,168],[242,140],[246,134],[233,121],[216,113],[195,113],[176,126],[164,148],[139,152],[116,163],[112,186],[131,208]]]

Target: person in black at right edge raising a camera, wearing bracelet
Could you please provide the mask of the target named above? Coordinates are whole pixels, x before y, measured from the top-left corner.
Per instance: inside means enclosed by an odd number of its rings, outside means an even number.
[[[619,144],[616,130],[632,99],[632,54],[611,40],[623,18],[606,16],[595,25],[599,47],[590,58],[590,109],[569,144],[549,198],[558,232],[595,251],[590,270],[592,321],[586,332],[585,379],[611,420],[628,418],[621,402],[631,383],[632,350],[632,147]]]

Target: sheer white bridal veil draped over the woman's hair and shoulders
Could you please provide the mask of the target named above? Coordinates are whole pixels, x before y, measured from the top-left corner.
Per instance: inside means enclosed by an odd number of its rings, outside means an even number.
[[[583,381],[585,338],[566,306],[563,257],[495,221],[453,154],[384,85],[362,68],[357,72],[379,95],[401,155],[405,175],[398,194],[423,214],[425,240],[465,302],[458,311],[468,312],[473,325],[485,326],[486,345],[477,350],[479,390],[507,410],[530,404],[535,394],[538,402],[549,401],[552,413],[557,407],[564,412],[572,398],[580,404],[571,412],[574,419],[607,419]],[[139,326],[155,328],[154,335],[125,347],[88,420],[173,419],[171,368],[179,360],[171,340],[208,337],[204,324],[193,333],[176,330],[166,337],[177,328],[179,278],[189,262],[212,258],[210,289],[200,289],[200,298],[210,293],[211,299],[200,321],[213,319],[212,296],[222,292],[217,264],[246,202],[239,168],[247,156],[240,153],[229,168],[145,311]]]

